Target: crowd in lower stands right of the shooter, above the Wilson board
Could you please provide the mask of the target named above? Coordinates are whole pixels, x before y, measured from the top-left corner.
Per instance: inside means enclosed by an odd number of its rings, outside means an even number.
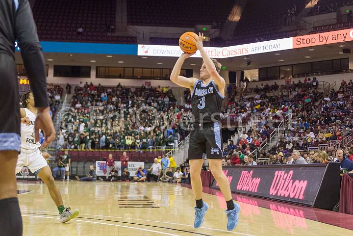
[[[272,164],[284,164],[292,163],[292,158],[295,159],[297,156],[303,157],[306,163],[322,163],[319,157],[309,152],[311,150],[309,148],[318,149],[319,145],[328,148],[329,141],[340,141],[352,134],[353,81],[342,80],[340,88],[337,91],[332,89],[321,101],[316,101],[314,96],[317,94],[316,84],[314,85],[312,80],[309,83],[307,81],[309,79],[305,79],[303,83],[290,84],[288,93],[268,96],[267,92],[263,92],[253,98],[244,97],[238,100],[231,98],[224,113],[238,112],[240,116],[250,116],[253,112],[260,112],[263,116],[249,131],[244,132],[236,144],[230,141],[223,152],[224,163],[249,165],[254,164],[252,162],[254,157],[269,158]],[[267,88],[271,91],[277,87]],[[310,106],[305,108],[305,103],[310,103]],[[269,138],[272,132],[270,128],[276,128],[276,125],[273,125],[274,120],[271,120],[271,114],[272,117],[276,114],[283,117],[288,113],[292,113],[291,123],[281,130],[273,147],[269,147],[268,150],[263,148],[260,152],[261,142]],[[254,150],[256,152],[253,152]],[[352,161],[353,144],[345,148],[345,153]],[[332,150],[328,152],[328,156],[329,158],[325,160],[336,160]],[[299,162],[301,161],[302,159]]]

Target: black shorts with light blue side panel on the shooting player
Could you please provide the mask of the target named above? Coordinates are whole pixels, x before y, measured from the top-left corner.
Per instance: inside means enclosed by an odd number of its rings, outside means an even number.
[[[188,159],[222,159],[222,135],[218,123],[196,127],[190,133]]]

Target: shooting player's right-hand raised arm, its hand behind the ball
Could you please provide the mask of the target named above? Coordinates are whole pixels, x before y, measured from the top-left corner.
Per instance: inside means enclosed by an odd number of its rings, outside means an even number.
[[[203,49],[203,45],[202,45],[203,34],[199,33],[199,35],[196,37],[197,37],[197,40],[195,41],[196,47],[201,53],[203,63],[205,64],[208,73],[211,75],[211,78],[214,80],[215,84],[217,85],[218,90],[224,96],[226,81],[218,74],[216,66],[214,65],[211,58],[207,55],[206,51]]]

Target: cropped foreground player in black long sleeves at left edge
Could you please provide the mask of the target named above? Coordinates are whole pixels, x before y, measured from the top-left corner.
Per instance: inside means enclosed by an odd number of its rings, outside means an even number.
[[[28,0],[0,0],[0,235],[22,236],[22,218],[17,199],[16,161],[20,151],[20,99],[16,77],[15,41],[18,40],[35,106],[35,139],[39,129],[46,140],[55,138],[49,114],[44,57]]]

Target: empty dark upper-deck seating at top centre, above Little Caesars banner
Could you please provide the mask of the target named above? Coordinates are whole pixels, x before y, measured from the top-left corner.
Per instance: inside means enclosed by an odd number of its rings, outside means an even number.
[[[127,22],[135,26],[194,27],[223,24],[234,0],[127,0]],[[212,10],[210,10],[212,9]]]

